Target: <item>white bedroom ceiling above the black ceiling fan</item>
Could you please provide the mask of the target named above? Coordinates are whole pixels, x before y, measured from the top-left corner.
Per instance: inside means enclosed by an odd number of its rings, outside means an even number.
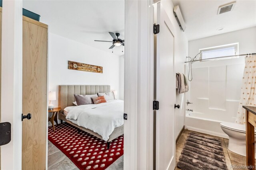
[[[23,8],[41,16],[51,33],[96,47],[108,49],[110,32],[119,32],[124,39],[124,0],[23,0]],[[124,55],[121,47],[114,47],[115,55]]]

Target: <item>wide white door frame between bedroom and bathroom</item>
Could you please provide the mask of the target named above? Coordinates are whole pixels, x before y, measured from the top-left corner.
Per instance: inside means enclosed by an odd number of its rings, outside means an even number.
[[[153,24],[153,0],[125,0],[125,170],[153,170]]]

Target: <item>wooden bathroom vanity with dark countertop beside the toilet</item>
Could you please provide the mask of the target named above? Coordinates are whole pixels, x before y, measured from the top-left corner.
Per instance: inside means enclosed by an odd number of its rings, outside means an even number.
[[[246,110],[246,165],[255,170],[254,127],[256,127],[256,107],[243,106]]]

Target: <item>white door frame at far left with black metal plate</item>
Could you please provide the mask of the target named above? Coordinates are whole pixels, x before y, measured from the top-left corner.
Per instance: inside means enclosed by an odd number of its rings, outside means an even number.
[[[12,130],[10,143],[1,147],[1,168],[18,170],[22,165],[22,0],[3,0],[3,6],[1,122],[10,122]]]

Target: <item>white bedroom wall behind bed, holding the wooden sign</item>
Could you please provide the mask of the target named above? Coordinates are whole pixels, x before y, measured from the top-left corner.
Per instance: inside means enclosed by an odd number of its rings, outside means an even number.
[[[85,37],[86,38],[86,37]],[[103,66],[103,73],[69,70],[68,61]],[[119,56],[78,43],[50,33],[49,35],[49,91],[56,91],[58,106],[58,85],[110,85],[119,94]],[[116,98],[119,98],[117,94]],[[64,108],[62,108],[64,109]]]

